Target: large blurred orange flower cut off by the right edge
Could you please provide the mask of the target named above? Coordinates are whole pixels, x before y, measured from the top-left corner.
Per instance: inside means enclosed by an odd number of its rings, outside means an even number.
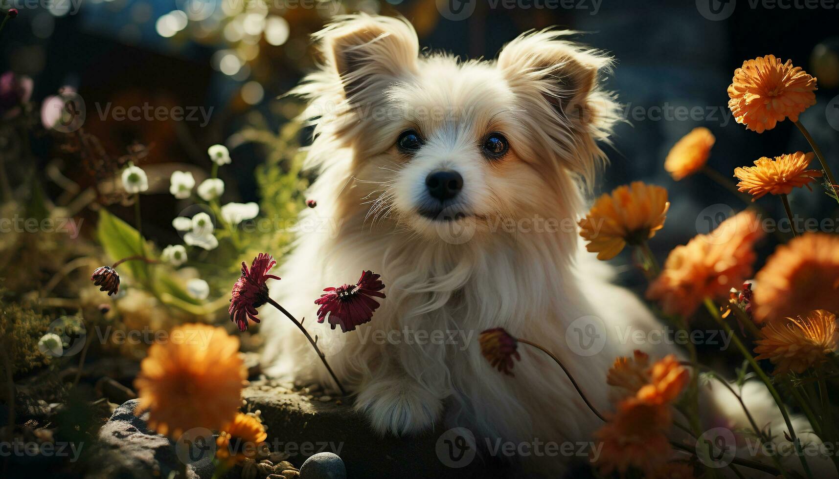
[[[758,324],[810,310],[839,311],[839,237],[796,237],[778,247],[754,279],[752,311]]]

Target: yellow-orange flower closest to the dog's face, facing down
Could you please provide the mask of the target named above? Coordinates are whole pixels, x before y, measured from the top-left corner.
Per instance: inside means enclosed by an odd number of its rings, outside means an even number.
[[[633,181],[595,201],[588,215],[580,220],[580,236],[586,238],[586,249],[597,253],[597,259],[611,259],[627,243],[638,245],[654,237],[664,226],[669,207],[667,190]]]

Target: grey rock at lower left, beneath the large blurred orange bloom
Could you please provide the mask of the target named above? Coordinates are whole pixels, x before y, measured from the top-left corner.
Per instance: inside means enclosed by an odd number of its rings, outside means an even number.
[[[118,407],[99,430],[100,458],[95,471],[87,477],[102,479],[133,479],[134,477],[169,477],[180,470],[175,444],[164,435],[149,430],[146,414],[134,414],[138,401],[133,399]],[[215,440],[212,438],[212,440]],[[208,479],[212,476],[212,457],[201,454],[187,467],[188,479]]]

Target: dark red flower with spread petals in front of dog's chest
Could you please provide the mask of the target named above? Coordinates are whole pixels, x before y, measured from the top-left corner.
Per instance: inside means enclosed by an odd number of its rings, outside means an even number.
[[[372,271],[363,271],[356,284],[324,289],[326,293],[315,299],[315,305],[320,305],[317,322],[322,323],[328,317],[333,330],[335,325],[341,325],[341,331],[346,333],[371,320],[379,306],[373,296],[385,297],[382,292],[384,284],[379,278]]]

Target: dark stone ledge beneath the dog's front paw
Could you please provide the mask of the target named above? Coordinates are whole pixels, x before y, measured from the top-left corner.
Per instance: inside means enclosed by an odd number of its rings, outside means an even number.
[[[460,467],[447,466],[439,447],[448,428],[438,426],[415,437],[380,437],[367,425],[367,419],[352,409],[352,398],[342,398],[343,404],[334,400],[341,398],[336,395],[330,402],[308,401],[301,393],[283,391],[245,388],[242,397],[251,410],[262,411],[272,452],[288,454],[291,463],[302,464],[317,453],[331,452],[340,456],[346,476],[353,479],[518,477],[511,466],[492,456],[475,456],[457,465]],[[282,471],[275,468],[274,473]],[[302,468],[300,479],[311,479]]]

